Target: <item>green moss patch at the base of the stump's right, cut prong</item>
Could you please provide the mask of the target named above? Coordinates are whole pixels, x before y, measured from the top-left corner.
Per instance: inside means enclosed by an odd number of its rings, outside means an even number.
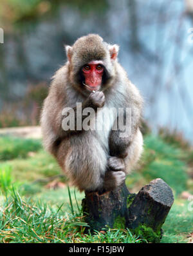
[[[147,240],[147,242],[160,242],[161,230],[155,232],[151,227],[147,227],[144,224],[138,226],[133,232],[140,238]]]

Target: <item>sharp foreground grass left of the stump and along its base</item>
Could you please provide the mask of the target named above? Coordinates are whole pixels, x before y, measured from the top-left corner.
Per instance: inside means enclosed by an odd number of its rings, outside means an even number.
[[[0,242],[142,242],[129,230],[85,234],[82,213],[66,213],[41,201],[24,201],[13,189],[1,201]]]

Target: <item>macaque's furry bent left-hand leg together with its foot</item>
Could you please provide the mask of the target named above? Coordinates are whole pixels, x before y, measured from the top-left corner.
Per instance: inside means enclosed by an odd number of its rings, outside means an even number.
[[[66,142],[60,146],[60,152],[65,152]],[[71,147],[64,153],[63,169],[79,190],[87,192],[109,191],[120,186],[125,180],[125,172],[107,170],[108,155],[98,140],[84,133],[71,138]]]

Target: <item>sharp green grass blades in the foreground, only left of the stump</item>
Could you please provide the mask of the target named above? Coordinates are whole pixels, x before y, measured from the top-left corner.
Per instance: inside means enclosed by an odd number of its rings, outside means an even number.
[[[78,215],[62,215],[46,203],[23,201],[19,193],[3,203],[1,210],[1,242],[71,242],[73,230],[86,225]]]

